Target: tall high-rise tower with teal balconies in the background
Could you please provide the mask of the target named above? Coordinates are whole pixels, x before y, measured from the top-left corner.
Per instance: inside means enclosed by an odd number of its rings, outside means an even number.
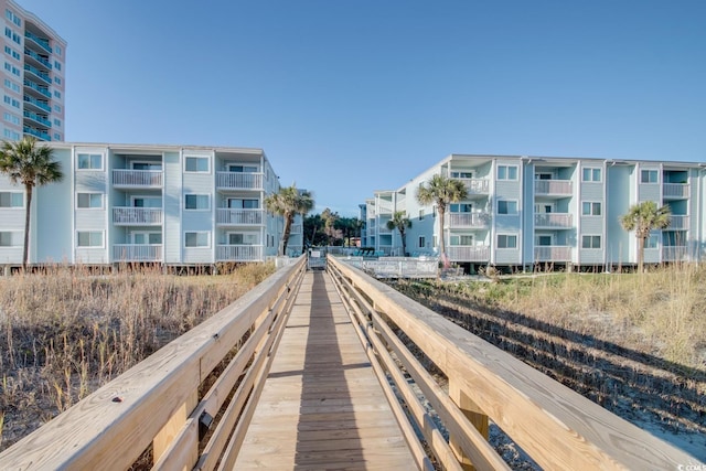
[[[2,133],[61,141],[64,132],[66,41],[12,0],[0,0],[2,36]]]

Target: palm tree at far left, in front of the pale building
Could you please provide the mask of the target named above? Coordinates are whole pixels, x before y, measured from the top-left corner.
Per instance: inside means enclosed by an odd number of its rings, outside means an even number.
[[[30,208],[34,186],[58,182],[64,178],[61,162],[52,160],[52,149],[36,147],[36,139],[25,136],[19,141],[3,140],[0,148],[0,172],[6,173],[13,184],[23,184],[26,194],[24,211],[24,248],[22,267],[26,269],[30,249]]]

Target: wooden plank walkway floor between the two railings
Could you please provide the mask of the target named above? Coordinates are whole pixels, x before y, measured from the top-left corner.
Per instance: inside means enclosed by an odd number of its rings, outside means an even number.
[[[235,469],[417,469],[324,271],[304,276]]]

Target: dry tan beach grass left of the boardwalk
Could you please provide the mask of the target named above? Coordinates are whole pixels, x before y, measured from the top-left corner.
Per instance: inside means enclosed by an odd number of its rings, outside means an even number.
[[[274,272],[54,267],[0,278],[0,450],[233,302]]]

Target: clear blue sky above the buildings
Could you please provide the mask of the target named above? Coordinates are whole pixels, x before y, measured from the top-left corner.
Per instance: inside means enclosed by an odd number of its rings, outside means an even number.
[[[450,153],[706,160],[705,0],[17,1],[66,140],[263,148],[317,212]]]

